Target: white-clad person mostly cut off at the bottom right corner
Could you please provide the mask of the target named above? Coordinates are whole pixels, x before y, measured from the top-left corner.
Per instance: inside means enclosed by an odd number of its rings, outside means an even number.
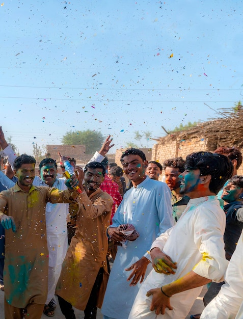
[[[202,319],[243,318],[243,232],[230,259],[225,284],[219,294],[206,306]]]

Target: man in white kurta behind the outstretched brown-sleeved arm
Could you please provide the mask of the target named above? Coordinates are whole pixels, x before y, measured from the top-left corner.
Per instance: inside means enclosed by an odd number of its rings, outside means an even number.
[[[33,184],[37,186],[55,187],[60,191],[67,189],[65,178],[57,178],[57,163],[55,159],[44,158],[39,164],[39,177]],[[76,203],[72,203],[76,205]],[[44,313],[52,315],[55,310],[55,290],[61,274],[63,260],[68,249],[67,215],[69,204],[46,204],[46,233],[49,250],[48,294]],[[54,304],[53,304],[54,303]]]

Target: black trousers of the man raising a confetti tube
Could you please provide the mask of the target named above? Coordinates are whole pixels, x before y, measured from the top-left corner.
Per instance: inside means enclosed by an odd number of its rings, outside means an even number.
[[[90,298],[84,310],[84,313],[85,313],[84,319],[96,319],[96,314],[97,314],[96,304],[98,300],[99,288],[103,279],[103,271],[104,271],[103,268],[100,268],[98,275],[95,279],[95,283],[91,290]],[[61,311],[65,315],[65,318],[75,319],[75,314],[74,314],[72,305],[60,296],[58,296],[58,301],[59,301]]]

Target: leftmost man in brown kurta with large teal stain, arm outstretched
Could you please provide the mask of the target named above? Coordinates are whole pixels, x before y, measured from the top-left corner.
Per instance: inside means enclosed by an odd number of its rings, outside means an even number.
[[[48,249],[46,243],[46,202],[72,202],[69,190],[32,185],[35,158],[26,154],[14,162],[18,181],[0,194],[0,220],[6,228],[5,318],[38,319],[47,297]],[[12,228],[12,230],[10,229]]]

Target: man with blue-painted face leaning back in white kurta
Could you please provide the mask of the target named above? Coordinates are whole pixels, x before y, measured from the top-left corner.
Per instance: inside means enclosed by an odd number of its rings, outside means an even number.
[[[177,224],[152,244],[154,269],[140,288],[129,319],[183,319],[204,284],[222,281],[227,268],[225,213],[216,194],[232,172],[224,155],[186,156],[180,192],[191,199]]]

